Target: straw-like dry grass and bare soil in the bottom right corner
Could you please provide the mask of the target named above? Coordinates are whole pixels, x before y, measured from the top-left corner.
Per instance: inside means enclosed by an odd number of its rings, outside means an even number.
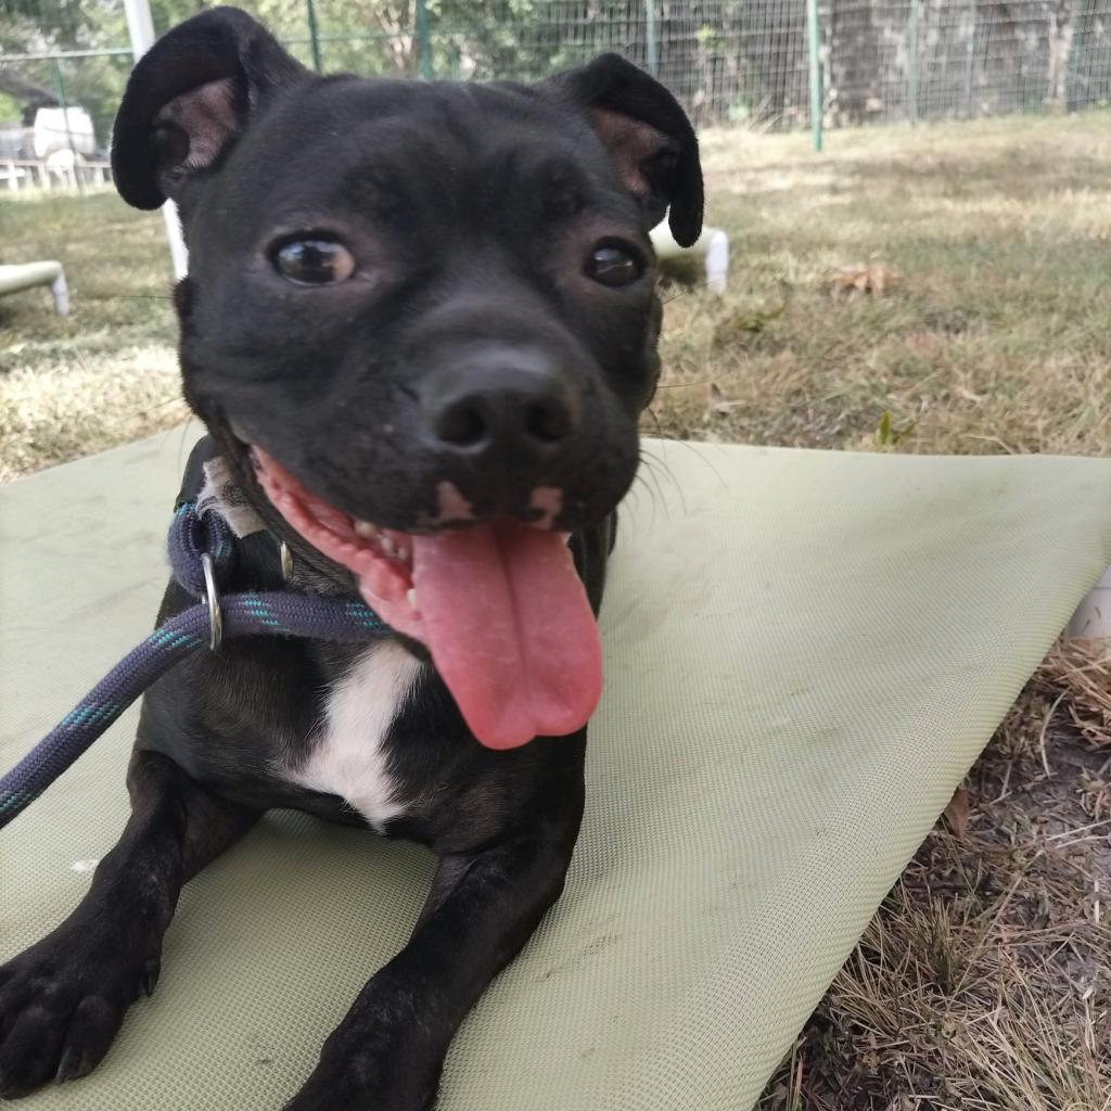
[[[762,1111],[1111,1108],[1109,710],[1111,661],[1055,649]]]

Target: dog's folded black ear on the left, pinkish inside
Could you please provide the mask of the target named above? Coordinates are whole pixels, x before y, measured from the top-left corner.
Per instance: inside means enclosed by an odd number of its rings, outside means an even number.
[[[164,34],[136,66],[112,131],[112,176],[136,208],[158,208],[213,167],[276,90],[311,79],[238,8]]]

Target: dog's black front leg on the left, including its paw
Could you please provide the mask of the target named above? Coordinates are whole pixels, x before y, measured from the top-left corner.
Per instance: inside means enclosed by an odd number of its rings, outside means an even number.
[[[158,980],[182,884],[258,817],[136,750],[131,818],[89,893],[38,944],[0,967],[0,1098],[69,1080],[108,1052],[128,1007]]]

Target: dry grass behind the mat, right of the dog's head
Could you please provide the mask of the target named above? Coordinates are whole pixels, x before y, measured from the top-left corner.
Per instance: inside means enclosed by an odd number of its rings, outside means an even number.
[[[675,289],[658,427],[860,449],[889,411],[902,451],[1105,451],[1108,122],[838,133],[820,157],[708,136],[730,290]],[[885,296],[845,292],[842,268],[882,269]]]

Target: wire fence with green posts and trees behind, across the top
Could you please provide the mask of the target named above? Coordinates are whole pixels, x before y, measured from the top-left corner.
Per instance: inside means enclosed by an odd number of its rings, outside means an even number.
[[[201,7],[153,0],[156,28]],[[812,90],[824,127],[1111,101],[1111,0],[810,0],[811,20],[808,0],[243,7],[323,72],[529,81],[617,50],[702,127],[812,127]],[[79,162],[102,158],[130,66],[121,0],[0,0],[0,162],[66,149]],[[59,107],[70,110],[43,124],[40,109]]]

